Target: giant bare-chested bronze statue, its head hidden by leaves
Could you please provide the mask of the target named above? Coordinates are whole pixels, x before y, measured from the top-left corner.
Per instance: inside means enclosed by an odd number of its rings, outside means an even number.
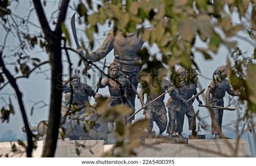
[[[113,62],[120,64],[120,71],[128,76],[131,84],[137,89],[139,82],[138,73],[142,68],[142,60],[137,55],[137,52],[142,49],[142,45],[143,40],[138,36],[138,30],[126,37],[123,37],[120,31],[117,31],[116,34],[111,31],[102,46],[90,53],[89,57],[85,58],[90,59],[92,62],[99,61],[106,57],[111,50],[114,50]],[[135,105],[135,97],[136,93],[130,85],[127,91],[127,99],[131,102],[133,107]]]

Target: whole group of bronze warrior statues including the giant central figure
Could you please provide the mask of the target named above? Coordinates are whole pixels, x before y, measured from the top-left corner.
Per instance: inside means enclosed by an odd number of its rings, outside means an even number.
[[[149,124],[146,127],[149,138],[152,138],[153,122],[156,122],[159,127],[159,135],[157,137],[164,137],[163,133],[167,128],[166,132],[169,134],[169,137],[183,138],[181,133],[183,132],[185,115],[188,119],[189,129],[192,130],[192,135],[197,136],[196,113],[193,108],[193,102],[197,99],[199,106],[203,106],[203,102],[200,101],[197,95],[197,81],[191,81],[189,84],[185,81],[188,74],[185,68],[181,67],[176,71],[180,79],[179,87],[174,87],[172,81],[161,80],[158,89],[150,88],[151,90],[147,93],[146,102],[144,102],[145,89],[142,89],[139,93],[137,92],[138,74],[143,66],[142,60],[137,55],[137,52],[142,49],[143,40],[137,33],[136,31],[134,34],[123,37],[121,32],[114,34],[111,31],[101,47],[89,54],[89,56],[84,57],[95,63],[106,57],[112,49],[114,51],[114,61],[109,66],[108,77],[100,80],[97,86],[99,88],[106,86],[109,88],[110,107],[126,105],[132,108],[132,113],[124,119],[127,125],[131,124],[132,120],[134,120],[134,101],[137,95],[142,104],[143,114],[149,120]],[[88,69],[90,68],[87,61],[84,61],[84,65]],[[208,108],[211,114],[212,134],[215,135],[215,139],[220,139],[226,138],[221,130],[225,109],[225,93],[227,92],[230,95],[238,95],[238,93],[232,90],[227,80],[226,66],[220,66],[216,73],[218,73],[219,79],[212,80],[208,86],[205,95],[205,107]],[[71,81],[71,84],[68,84],[69,81]],[[96,100],[102,97],[101,94],[96,94],[89,85],[82,83],[78,75],[74,75],[69,81],[63,82],[64,93],[66,93],[65,105],[70,105],[70,85],[72,86],[72,101],[76,102],[78,106],[89,102],[89,96],[93,96]],[[165,104],[165,96],[161,94],[166,92],[169,93],[170,98]],[[167,117],[167,111],[169,118]],[[78,112],[78,114],[85,113],[86,108]],[[116,123],[114,122],[113,128],[116,128]]]

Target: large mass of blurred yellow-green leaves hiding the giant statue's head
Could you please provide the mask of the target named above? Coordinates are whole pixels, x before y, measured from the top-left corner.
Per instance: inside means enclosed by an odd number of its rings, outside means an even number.
[[[142,73],[149,75],[152,68],[161,68],[159,65],[167,64],[172,79],[176,75],[174,65],[199,70],[194,61],[194,51],[200,52],[206,60],[210,60],[213,54],[218,53],[221,45],[230,51],[237,49],[237,42],[230,39],[240,31],[255,39],[255,5],[254,0],[127,0],[103,1],[97,5],[97,9],[92,10],[86,7],[92,6],[91,1],[86,1],[78,4],[77,11],[80,20],[83,18],[82,22],[87,27],[86,36],[90,40],[91,48],[95,42],[93,33],[98,33],[98,25],[113,25],[114,33],[121,31],[123,36],[138,29],[139,36],[150,46],[156,44],[161,54],[161,60],[157,60],[150,56],[146,48],[139,51],[138,55],[142,58],[143,64],[147,64]],[[248,20],[246,13],[251,12],[251,20]],[[244,25],[242,21],[234,24],[233,13],[237,13],[240,20],[251,21],[251,26]],[[196,40],[201,40],[207,47],[195,46]],[[140,82],[149,93],[150,85],[156,80],[152,80],[154,77],[145,78],[147,77],[144,77],[144,80],[140,78]],[[174,82],[174,85],[177,85],[177,82]]]

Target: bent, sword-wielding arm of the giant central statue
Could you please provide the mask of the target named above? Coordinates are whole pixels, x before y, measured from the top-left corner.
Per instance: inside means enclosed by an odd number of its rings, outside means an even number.
[[[92,62],[99,61],[106,57],[106,55],[113,49],[114,43],[114,33],[110,31],[107,35],[106,39],[103,41],[102,46],[100,46],[96,51],[89,54],[89,59]]]

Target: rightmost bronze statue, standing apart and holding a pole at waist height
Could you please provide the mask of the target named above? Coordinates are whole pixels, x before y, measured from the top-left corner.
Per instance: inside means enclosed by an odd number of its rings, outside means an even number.
[[[216,109],[212,106],[224,107],[224,96],[226,92],[232,96],[238,96],[239,93],[231,89],[230,82],[227,79],[227,66],[220,66],[217,73],[219,73],[219,79],[218,81],[211,81],[205,95],[205,100],[206,107],[208,107],[211,113],[212,134],[215,135],[215,139],[226,139],[226,136],[222,134],[221,130],[223,109]]]

